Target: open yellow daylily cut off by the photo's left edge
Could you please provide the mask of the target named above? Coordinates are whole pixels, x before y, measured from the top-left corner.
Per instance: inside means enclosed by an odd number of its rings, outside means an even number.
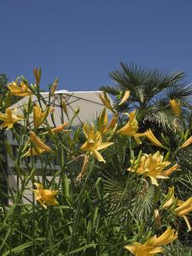
[[[23,119],[20,114],[15,114],[15,112],[7,108],[6,113],[0,113],[0,119],[4,121],[1,125],[2,128],[8,127],[7,129],[11,129],[15,123]]]

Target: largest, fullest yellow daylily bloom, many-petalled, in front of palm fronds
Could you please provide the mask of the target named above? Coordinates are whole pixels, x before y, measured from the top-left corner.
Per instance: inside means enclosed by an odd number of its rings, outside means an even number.
[[[137,172],[138,175],[143,175],[145,177],[149,177],[151,183],[155,186],[159,186],[157,183],[157,178],[169,178],[168,176],[172,174],[172,172],[177,170],[177,164],[172,166],[168,170],[164,170],[166,166],[169,166],[171,162],[164,161],[163,155],[157,151],[154,154],[143,154],[140,160],[140,165],[137,167],[134,166],[134,161],[131,160],[132,166],[127,170],[130,172]]]

